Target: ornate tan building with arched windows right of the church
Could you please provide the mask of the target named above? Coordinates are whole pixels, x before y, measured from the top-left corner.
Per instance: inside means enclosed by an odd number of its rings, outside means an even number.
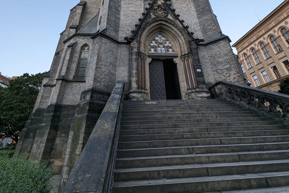
[[[289,78],[289,0],[285,0],[233,44],[252,87],[278,91]]]

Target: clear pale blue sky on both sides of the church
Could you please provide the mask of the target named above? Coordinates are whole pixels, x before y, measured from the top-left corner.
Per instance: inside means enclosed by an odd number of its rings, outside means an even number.
[[[48,71],[70,9],[79,0],[3,1],[0,12],[0,72],[20,76]],[[222,32],[232,43],[283,0],[210,0]],[[255,14],[256,12],[256,14]]]

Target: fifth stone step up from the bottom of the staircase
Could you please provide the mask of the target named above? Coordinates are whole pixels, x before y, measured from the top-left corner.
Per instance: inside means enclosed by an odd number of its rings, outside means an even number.
[[[289,135],[119,142],[119,149],[286,142]]]

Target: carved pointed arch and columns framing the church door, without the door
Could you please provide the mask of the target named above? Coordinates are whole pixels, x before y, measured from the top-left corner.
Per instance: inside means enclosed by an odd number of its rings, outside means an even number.
[[[149,64],[152,60],[160,58],[174,61],[176,64],[182,98],[186,98],[188,92],[198,88],[193,62],[194,54],[191,51],[194,42],[181,27],[167,18],[158,18],[158,20],[147,24],[140,31],[141,33],[136,38],[138,89],[148,93],[147,99],[150,98]],[[157,42],[159,36],[164,38],[164,41],[168,41],[168,46],[163,48],[165,50],[164,53],[159,52],[160,50],[152,45],[154,44],[152,41],[155,41],[155,45],[162,44],[162,42]],[[169,46],[169,44],[172,44],[172,46]],[[165,47],[165,43],[163,43],[163,46]],[[151,50],[152,47],[154,47],[153,51]]]

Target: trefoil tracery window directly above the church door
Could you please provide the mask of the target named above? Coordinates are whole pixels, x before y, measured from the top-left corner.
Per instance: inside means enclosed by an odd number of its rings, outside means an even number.
[[[175,53],[171,40],[159,33],[149,45],[150,53]]]

